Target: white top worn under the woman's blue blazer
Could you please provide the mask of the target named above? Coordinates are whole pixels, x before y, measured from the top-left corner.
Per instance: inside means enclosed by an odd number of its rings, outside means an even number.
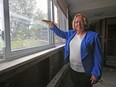
[[[84,38],[81,35],[75,35],[70,41],[70,67],[77,72],[85,72],[82,61],[81,61],[81,42]]]

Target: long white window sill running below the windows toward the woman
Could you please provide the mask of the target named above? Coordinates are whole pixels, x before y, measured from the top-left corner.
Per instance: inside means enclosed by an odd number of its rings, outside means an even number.
[[[15,68],[18,68],[20,66],[23,66],[24,64],[27,64],[27,63],[30,63],[30,64],[38,63],[38,62],[50,57],[54,53],[58,52],[63,47],[64,47],[64,44],[60,45],[60,46],[56,46],[56,47],[48,49],[48,50],[45,50],[45,51],[41,51],[41,52],[38,52],[35,54],[28,55],[28,56],[25,56],[22,58],[1,62],[0,63],[0,75],[3,73],[6,73],[8,71],[11,71]]]

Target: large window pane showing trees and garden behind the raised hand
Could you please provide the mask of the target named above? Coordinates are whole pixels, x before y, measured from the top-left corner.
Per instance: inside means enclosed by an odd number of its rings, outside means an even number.
[[[47,0],[9,0],[11,50],[49,44]]]

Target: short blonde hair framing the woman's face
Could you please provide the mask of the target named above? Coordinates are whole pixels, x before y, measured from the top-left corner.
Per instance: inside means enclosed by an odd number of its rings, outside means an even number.
[[[88,19],[87,19],[83,14],[76,14],[76,15],[74,16],[73,21],[72,21],[72,28],[75,30],[75,20],[76,20],[76,18],[77,18],[78,16],[81,16],[81,17],[82,17],[82,19],[83,19],[83,21],[84,21],[84,28],[85,28],[85,30],[87,30],[88,27],[89,27],[89,23],[88,23]]]

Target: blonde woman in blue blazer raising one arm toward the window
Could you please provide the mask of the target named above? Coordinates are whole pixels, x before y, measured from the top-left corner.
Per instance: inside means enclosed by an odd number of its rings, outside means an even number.
[[[52,21],[43,22],[49,24],[56,35],[66,39],[64,61],[69,60],[73,86],[92,87],[97,83],[102,75],[102,50],[98,33],[87,31],[87,18],[75,15],[73,30],[68,32],[58,29]]]

